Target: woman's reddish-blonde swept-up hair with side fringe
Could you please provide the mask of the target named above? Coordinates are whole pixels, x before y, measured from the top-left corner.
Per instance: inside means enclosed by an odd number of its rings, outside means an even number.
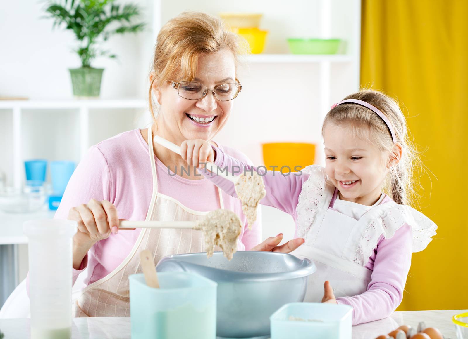
[[[149,109],[153,119],[152,87],[167,80],[192,81],[200,56],[229,49],[237,64],[245,49],[238,35],[228,31],[221,19],[201,12],[183,12],[169,20],[158,34],[151,67]],[[236,74],[237,75],[237,74]]]

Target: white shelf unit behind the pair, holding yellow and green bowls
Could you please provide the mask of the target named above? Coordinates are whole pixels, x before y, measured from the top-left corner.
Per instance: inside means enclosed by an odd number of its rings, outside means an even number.
[[[217,141],[240,149],[255,164],[263,163],[263,142],[313,142],[316,163],[323,164],[323,117],[333,102],[359,89],[360,0],[156,0],[154,41],[161,26],[183,11],[262,13],[260,28],[269,31],[263,53],[243,58],[242,92]],[[340,38],[344,54],[293,55],[290,37]],[[268,128],[259,131],[265,121]]]

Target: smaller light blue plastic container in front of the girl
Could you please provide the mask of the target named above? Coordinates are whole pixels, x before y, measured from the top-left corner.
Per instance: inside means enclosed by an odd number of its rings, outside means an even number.
[[[352,307],[290,303],[273,313],[270,323],[271,339],[351,339]]]

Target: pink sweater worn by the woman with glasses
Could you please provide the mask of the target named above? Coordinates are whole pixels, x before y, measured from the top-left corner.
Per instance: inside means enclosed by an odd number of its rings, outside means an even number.
[[[243,162],[249,162],[239,151],[227,147],[221,149]],[[162,194],[197,211],[219,208],[217,188],[208,179],[190,180],[171,176],[167,167],[157,158],[156,172],[158,191]],[[180,174],[180,170],[177,172]],[[174,175],[173,172],[171,174]],[[95,198],[113,203],[119,219],[145,220],[152,191],[148,144],[139,129],[124,132],[88,150],[66,187],[55,219],[67,219],[70,208],[87,204],[90,199]],[[249,250],[259,244],[262,241],[261,216],[257,216],[257,221],[249,231],[239,200],[224,192],[222,197],[225,208],[239,215],[245,225],[240,235],[243,246],[238,249]],[[112,272],[130,253],[140,231],[140,228],[122,230],[117,235],[110,234],[109,238],[98,241],[83,259],[80,270],[73,269],[73,283],[86,267],[86,284],[94,283]]]

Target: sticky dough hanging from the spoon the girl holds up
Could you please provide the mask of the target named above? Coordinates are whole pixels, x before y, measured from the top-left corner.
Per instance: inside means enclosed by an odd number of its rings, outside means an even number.
[[[257,219],[258,203],[266,194],[263,178],[256,172],[253,172],[252,175],[243,174],[237,180],[234,188],[237,197],[241,200],[242,211],[247,217],[249,229],[251,229],[252,224]]]

